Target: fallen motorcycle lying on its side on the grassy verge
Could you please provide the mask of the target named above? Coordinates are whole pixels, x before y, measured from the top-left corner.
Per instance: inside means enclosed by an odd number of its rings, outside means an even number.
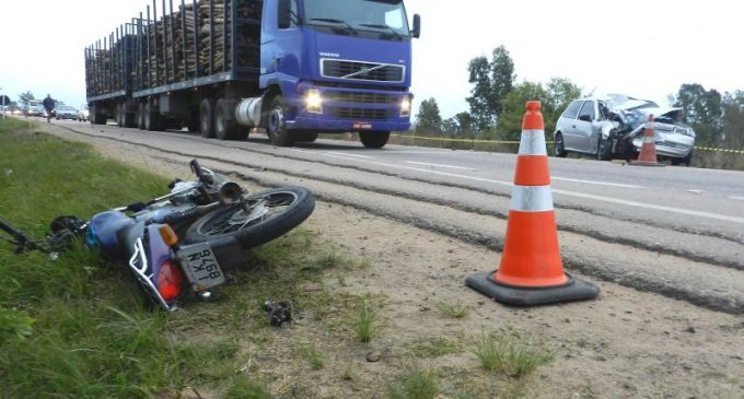
[[[113,260],[126,261],[150,300],[174,310],[187,292],[209,297],[224,271],[244,263],[244,250],[300,225],[315,200],[301,187],[246,195],[236,183],[190,162],[196,178],[174,180],[171,192],[83,221],[60,216],[45,240],[0,221],[16,253],[63,250],[75,237]]]

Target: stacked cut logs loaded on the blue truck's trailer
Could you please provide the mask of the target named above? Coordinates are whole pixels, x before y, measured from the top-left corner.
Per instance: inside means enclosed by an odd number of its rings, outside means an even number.
[[[133,62],[129,66],[131,72],[129,79],[141,77],[143,80],[141,87],[137,89],[155,87],[230,70],[233,57],[231,4],[231,0],[212,0],[211,5],[209,0],[199,0],[195,9],[194,2],[190,1],[188,4],[179,5],[173,15],[162,15],[151,22],[144,21],[139,38],[129,37],[126,40],[127,54]],[[235,11],[240,19],[255,21],[255,24],[236,24],[237,66],[258,68],[263,0],[236,0],[236,4]],[[198,51],[194,48],[195,33]],[[91,51],[86,60],[89,91],[106,94],[123,89],[120,75],[114,75],[113,80],[111,74],[102,71],[124,68],[121,59],[116,59],[117,56],[112,55],[124,50],[124,42],[115,43],[111,49]]]

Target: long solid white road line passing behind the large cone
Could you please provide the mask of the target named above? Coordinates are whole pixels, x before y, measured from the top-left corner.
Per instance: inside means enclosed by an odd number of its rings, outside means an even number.
[[[293,151],[310,152],[310,151],[301,151],[301,150],[293,150]],[[322,153],[322,152],[313,152],[313,153],[319,154],[319,155],[326,155],[326,156],[330,156],[330,157],[344,159],[342,156],[335,156],[335,154],[332,155],[332,154]],[[492,184],[503,185],[503,186],[509,186],[509,187],[513,186],[513,184],[511,181],[493,180],[493,179],[476,177],[476,176],[467,176],[467,175],[457,175],[457,174],[454,174],[454,173],[439,172],[439,171],[432,171],[432,169],[423,169],[423,168],[420,168],[420,167],[387,164],[387,163],[384,163],[384,162],[373,162],[373,161],[363,161],[363,160],[357,160],[357,161],[362,162],[362,163],[367,163],[367,164],[370,164],[370,165],[375,165],[375,166],[385,166],[385,167],[392,167],[392,168],[397,168],[397,169],[422,172],[422,173],[428,173],[428,174],[432,174],[432,175],[456,177],[456,178],[461,178],[461,179],[464,179],[464,180],[492,183]],[[685,215],[689,215],[689,216],[707,218],[707,219],[720,220],[720,221],[724,221],[724,222],[733,222],[733,223],[744,224],[744,218],[729,216],[729,215],[725,215],[725,214],[718,214],[718,213],[712,213],[712,212],[694,211],[694,210],[676,208],[676,207],[654,206],[654,204],[651,204],[651,203],[630,201],[630,200],[624,200],[624,199],[612,198],[612,197],[595,196],[595,195],[592,195],[592,193],[584,193],[584,192],[578,192],[578,191],[567,191],[567,190],[556,190],[556,189],[554,189],[553,192],[559,193],[559,195],[562,195],[562,196],[585,198],[585,199],[592,199],[592,200],[595,200],[595,201],[609,202],[609,203],[617,203],[617,204],[621,204],[621,206],[626,206],[626,207],[650,209],[650,210],[654,210],[654,211],[664,211],[664,212],[671,212],[671,213],[685,214]]]

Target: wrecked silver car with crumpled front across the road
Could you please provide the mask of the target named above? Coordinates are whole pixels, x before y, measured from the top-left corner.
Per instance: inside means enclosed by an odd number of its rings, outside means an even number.
[[[654,116],[659,160],[689,166],[695,131],[679,121],[682,108],[660,107],[652,101],[625,95],[586,97],[571,103],[556,124],[555,154],[566,156],[576,152],[601,161],[635,157],[643,144],[649,115]]]

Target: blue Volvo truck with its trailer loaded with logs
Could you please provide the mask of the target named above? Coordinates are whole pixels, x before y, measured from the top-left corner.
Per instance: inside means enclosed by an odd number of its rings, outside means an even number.
[[[158,1],[85,48],[92,124],[374,149],[410,127],[421,19],[403,0]]]

